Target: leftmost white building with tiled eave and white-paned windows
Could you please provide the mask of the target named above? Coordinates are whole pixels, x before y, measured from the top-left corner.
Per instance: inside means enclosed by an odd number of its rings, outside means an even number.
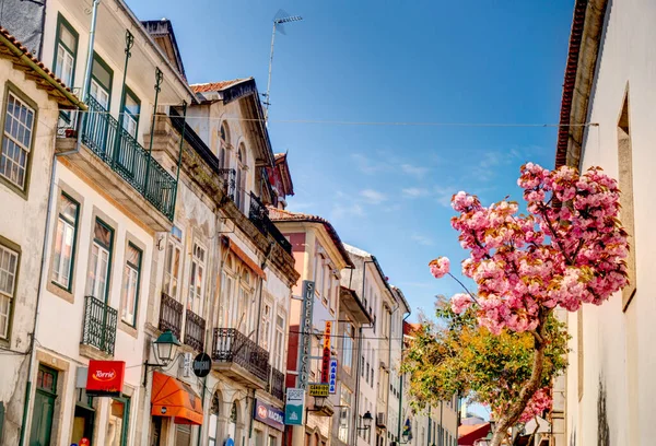
[[[16,445],[34,340],[57,120],[79,99],[0,30],[0,444]]]

